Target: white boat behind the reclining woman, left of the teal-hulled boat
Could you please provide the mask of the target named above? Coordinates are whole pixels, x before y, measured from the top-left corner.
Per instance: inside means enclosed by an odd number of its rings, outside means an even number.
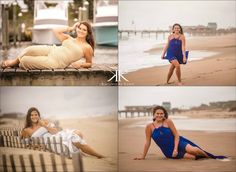
[[[61,44],[52,29],[68,26],[68,3],[71,0],[35,0],[34,44]]]

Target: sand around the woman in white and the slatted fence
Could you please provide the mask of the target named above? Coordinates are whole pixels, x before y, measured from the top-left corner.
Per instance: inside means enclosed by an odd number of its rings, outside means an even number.
[[[8,125],[14,126],[15,121]],[[60,127],[63,129],[78,129],[82,132],[86,142],[97,152],[105,155],[105,159],[97,159],[91,156],[83,156],[83,164],[85,171],[117,171],[117,117],[116,116],[100,116],[89,118],[63,119],[59,120]],[[7,125],[1,125],[7,127]],[[38,154],[38,151],[17,148],[0,148],[0,153],[7,154]],[[48,153],[44,153],[47,156]]]

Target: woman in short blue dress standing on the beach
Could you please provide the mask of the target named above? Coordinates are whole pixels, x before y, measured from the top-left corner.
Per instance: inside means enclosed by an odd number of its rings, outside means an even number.
[[[168,59],[171,63],[167,75],[167,84],[169,84],[170,78],[175,70],[176,76],[178,78],[177,85],[182,85],[180,64],[186,64],[187,62],[185,36],[183,34],[182,27],[178,23],[173,25],[172,30],[173,33],[168,37],[168,42],[164,48],[161,58]]]

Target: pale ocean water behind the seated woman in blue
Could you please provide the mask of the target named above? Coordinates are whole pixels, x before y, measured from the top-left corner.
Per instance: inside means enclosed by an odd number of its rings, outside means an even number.
[[[170,117],[177,130],[191,130],[191,131],[207,131],[207,132],[236,132],[236,119],[192,119],[183,117]],[[151,119],[151,118],[150,118]],[[129,127],[145,127],[150,121],[138,122]]]

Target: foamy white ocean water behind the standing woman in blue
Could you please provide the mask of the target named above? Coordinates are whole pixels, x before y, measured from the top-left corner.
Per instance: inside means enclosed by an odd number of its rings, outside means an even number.
[[[167,35],[160,34],[156,39],[156,35],[145,35],[143,38],[141,35],[123,35],[119,40],[119,70],[122,73],[128,73],[143,68],[149,68],[153,66],[168,65],[168,60],[162,60],[162,50],[155,54],[150,54],[147,51],[153,48],[165,46]],[[192,39],[192,37],[186,36],[186,39]],[[190,51],[189,61],[200,60],[203,58],[216,55],[217,52],[212,51]]]

